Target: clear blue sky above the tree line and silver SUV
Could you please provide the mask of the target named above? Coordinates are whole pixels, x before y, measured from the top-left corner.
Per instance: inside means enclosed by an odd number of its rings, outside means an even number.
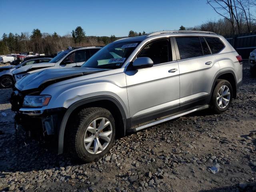
[[[34,28],[65,35],[77,26],[87,36],[127,36],[218,18],[206,0],[0,0],[0,36]]]

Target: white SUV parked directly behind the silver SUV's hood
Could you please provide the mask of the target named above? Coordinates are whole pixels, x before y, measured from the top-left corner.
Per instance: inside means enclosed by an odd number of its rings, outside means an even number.
[[[102,46],[77,47],[62,51],[47,63],[38,63],[24,66],[12,72],[16,82],[28,74],[45,69],[60,69],[69,67],[80,67],[93,54],[100,50]]]

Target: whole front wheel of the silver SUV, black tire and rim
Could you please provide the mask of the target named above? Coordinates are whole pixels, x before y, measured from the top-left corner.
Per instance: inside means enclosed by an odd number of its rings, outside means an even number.
[[[98,107],[84,108],[69,123],[69,151],[84,162],[103,157],[114,145],[115,122],[112,114]]]

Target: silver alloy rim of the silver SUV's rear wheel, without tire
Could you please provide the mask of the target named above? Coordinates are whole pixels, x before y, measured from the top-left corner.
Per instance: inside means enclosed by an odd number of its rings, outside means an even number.
[[[217,104],[220,108],[224,109],[228,106],[228,103],[230,101],[230,90],[228,86],[223,85],[220,87],[216,99]]]

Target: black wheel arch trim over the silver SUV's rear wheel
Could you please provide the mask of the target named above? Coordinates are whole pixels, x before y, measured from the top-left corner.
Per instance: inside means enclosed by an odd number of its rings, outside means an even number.
[[[230,82],[233,89],[233,98],[236,98],[237,82],[236,82],[236,75],[232,70],[225,70],[217,74],[212,84],[212,90],[210,94],[211,98],[212,98],[214,87],[216,86],[216,82],[218,79],[224,79]]]

